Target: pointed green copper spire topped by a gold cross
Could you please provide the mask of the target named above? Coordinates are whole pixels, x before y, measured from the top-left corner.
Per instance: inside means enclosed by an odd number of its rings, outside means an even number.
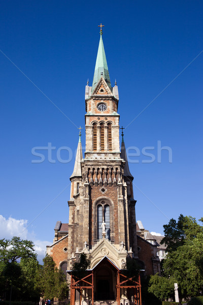
[[[100,26],[100,28],[101,28],[101,26],[104,26],[104,25],[98,25],[98,26]],[[103,32],[100,29],[100,40],[99,40],[99,45],[98,45],[97,57],[96,57],[96,65],[95,65],[95,69],[94,69],[92,92],[95,89],[101,76],[104,77],[110,90],[112,90],[111,81],[110,81],[110,77],[109,77],[109,70],[108,70],[108,66],[107,66],[107,59],[106,59],[106,55],[105,55],[105,48],[104,48],[104,44],[103,44],[103,40],[102,40],[102,34],[103,34]]]

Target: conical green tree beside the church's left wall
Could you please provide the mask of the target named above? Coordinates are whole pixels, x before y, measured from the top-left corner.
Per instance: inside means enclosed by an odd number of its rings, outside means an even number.
[[[66,298],[69,288],[62,271],[56,267],[53,258],[49,255],[46,255],[43,262],[44,265],[37,272],[35,288],[41,291],[44,298]]]

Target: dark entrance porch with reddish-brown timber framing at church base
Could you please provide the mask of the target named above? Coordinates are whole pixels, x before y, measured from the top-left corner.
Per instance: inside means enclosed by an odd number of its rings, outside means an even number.
[[[108,257],[104,257],[79,281],[71,275],[71,305],[141,305],[140,275],[128,279]]]

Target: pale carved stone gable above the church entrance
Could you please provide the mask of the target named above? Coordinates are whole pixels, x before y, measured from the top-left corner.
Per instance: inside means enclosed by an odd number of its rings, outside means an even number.
[[[91,268],[106,256],[120,269],[122,268],[122,261],[126,260],[127,256],[126,250],[120,252],[108,239],[100,239],[89,252]]]

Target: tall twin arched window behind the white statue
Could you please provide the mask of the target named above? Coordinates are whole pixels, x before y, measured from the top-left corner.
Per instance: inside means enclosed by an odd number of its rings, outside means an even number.
[[[110,207],[105,204],[105,201],[101,201],[101,204],[97,205],[97,239],[102,238],[101,224],[103,221],[106,224],[106,238],[110,239]]]

